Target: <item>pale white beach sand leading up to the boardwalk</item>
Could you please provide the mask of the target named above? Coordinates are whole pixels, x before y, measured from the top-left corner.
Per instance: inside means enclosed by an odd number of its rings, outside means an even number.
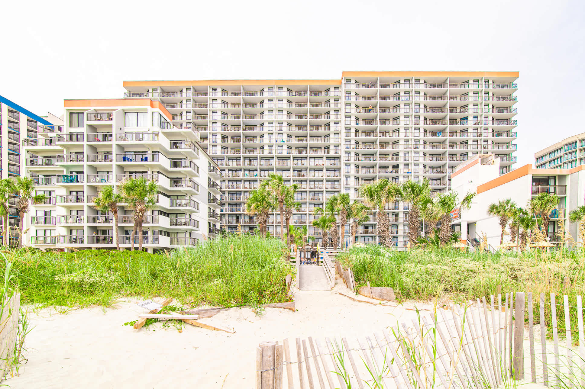
[[[416,317],[404,308],[354,302],[334,291],[295,290],[297,312],[267,308],[259,317],[247,308],[231,309],[202,321],[230,326],[236,333],[209,331],[185,325],[135,330],[123,323],[137,319],[144,309],[137,300],[115,308],[77,309],[55,314],[43,309],[30,314],[35,326],[26,339],[27,362],[20,376],[5,381],[25,388],[252,388],[256,347],[260,342],[308,336],[363,338],[397,319]],[[345,289],[347,291],[347,289]],[[412,304],[405,304],[412,307]],[[431,305],[417,304],[419,308]]]

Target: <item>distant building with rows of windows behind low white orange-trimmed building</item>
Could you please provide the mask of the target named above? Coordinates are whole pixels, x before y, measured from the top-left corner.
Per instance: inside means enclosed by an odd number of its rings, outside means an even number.
[[[537,169],[569,169],[585,164],[585,132],[534,153]]]

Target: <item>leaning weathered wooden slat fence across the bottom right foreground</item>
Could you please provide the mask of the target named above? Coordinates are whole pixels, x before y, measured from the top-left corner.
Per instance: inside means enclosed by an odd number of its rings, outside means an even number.
[[[546,386],[563,382],[571,387],[567,381],[572,381],[574,386],[583,387],[581,296],[576,298],[576,307],[569,305],[566,295],[563,304],[556,304],[554,294],[546,300],[541,294],[540,301],[534,302],[530,292],[491,295],[487,301],[481,298],[464,307],[455,304],[450,309],[438,309],[436,315],[421,314],[412,322],[389,323],[388,328],[355,342],[346,338],[297,338],[295,350],[288,339],[263,342],[256,350],[256,388],[487,389],[510,387],[513,381],[523,378]],[[552,340],[546,337],[548,306],[552,312]],[[566,347],[562,352],[558,309],[565,314]],[[539,312],[540,331],[535,331],[533,310]],[[573,327],[579,334],[579,346],[572,347],[570,319],[575,318]],[[536,344],[535,332],[540,333],[540,345]]]

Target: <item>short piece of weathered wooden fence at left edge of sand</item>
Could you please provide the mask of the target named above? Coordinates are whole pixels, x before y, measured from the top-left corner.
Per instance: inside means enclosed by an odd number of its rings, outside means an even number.
[[[4,301],[0,318],[0,381],[6,376],[14,357],[18,319],[20,315],[20,293],[14,293]]]

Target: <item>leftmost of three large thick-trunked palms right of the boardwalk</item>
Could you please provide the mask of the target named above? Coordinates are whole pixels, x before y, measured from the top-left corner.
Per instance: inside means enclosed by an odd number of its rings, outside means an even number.
[[[359,195],[364,199],[364,203],[376,211],[378,236],[386,247],[391,246],[392,240],[386,205],[398,198],[398,192],[398,185],[386,178],[372,184],[364,184],[359,188]]]

